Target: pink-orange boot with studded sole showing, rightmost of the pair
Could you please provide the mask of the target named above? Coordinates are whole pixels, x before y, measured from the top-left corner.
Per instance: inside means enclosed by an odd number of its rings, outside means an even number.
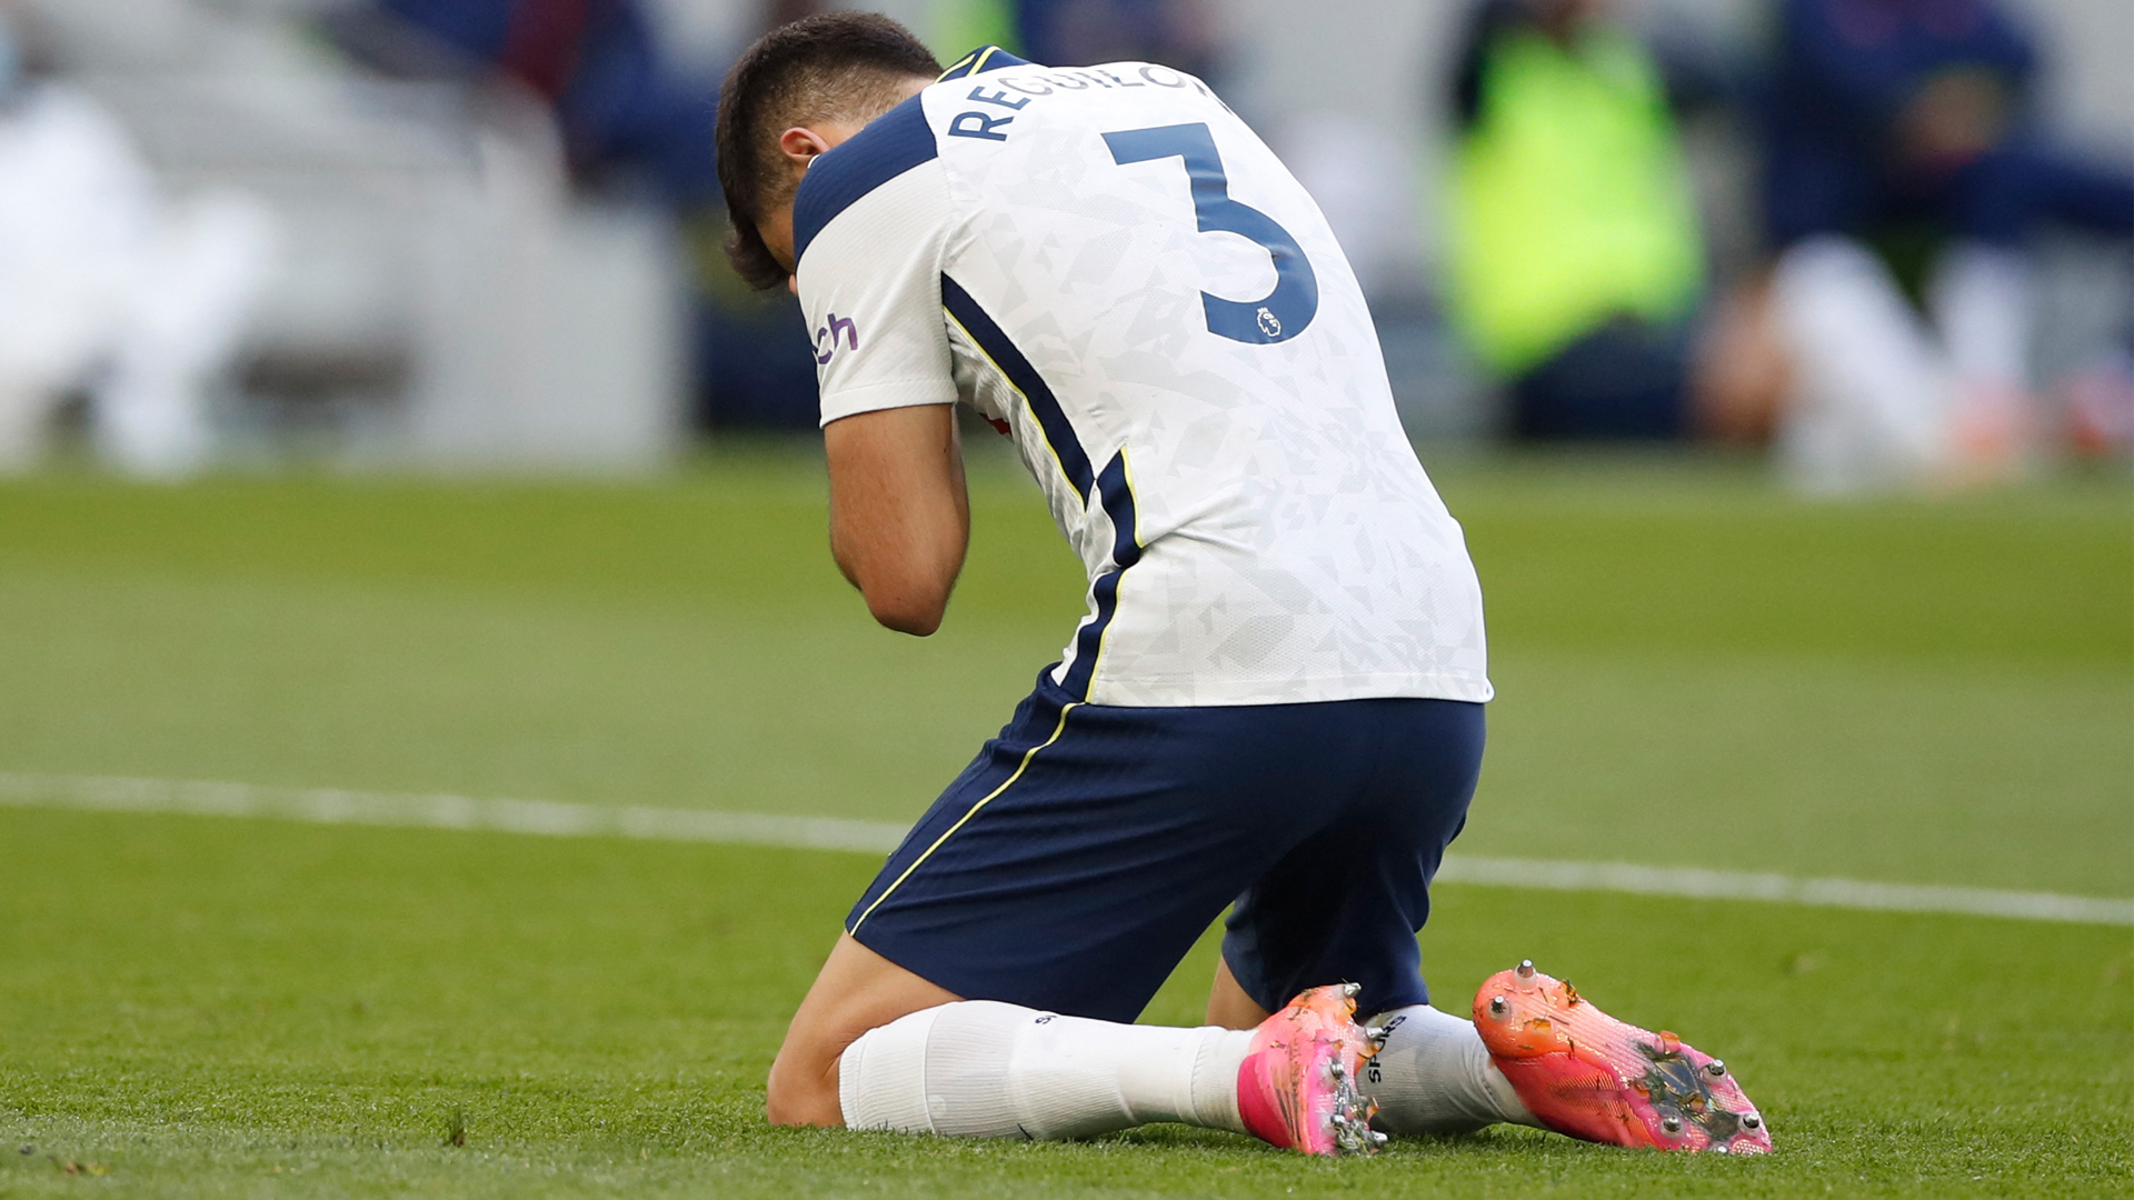
[[[1600,1012],[1568,982],[1519,963],[1475,993],[1475,1029],[1547,1127],[1662,1151],[1771,1153],[1771,1130],[1726,1063]]]

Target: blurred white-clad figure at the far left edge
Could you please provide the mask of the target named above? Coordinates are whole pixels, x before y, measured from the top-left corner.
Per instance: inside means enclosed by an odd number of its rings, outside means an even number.
[[[275,241],[250,196],[166,201],[117,120],[47,77],[0,4],[0,470],[43,453],[77,391],[109,465],[205,465],[213,386]]]

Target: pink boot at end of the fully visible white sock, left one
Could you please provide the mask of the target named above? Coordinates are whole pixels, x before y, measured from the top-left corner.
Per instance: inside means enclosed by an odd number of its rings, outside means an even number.
[[[1238,1115],[1259,1140],[1308,1155],[1374,1153],[1379,1110],[1355,1089],[1379,1046],[1355,1023],[1357,984],[1315,986],[1253,1029],[1238,1068]]]

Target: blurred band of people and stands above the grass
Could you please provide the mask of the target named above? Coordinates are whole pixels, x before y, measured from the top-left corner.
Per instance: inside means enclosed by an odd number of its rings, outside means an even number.
[[[726,66],[811,0],[0,0],[0,468],[644,470],[813,429],[723,258]],[[886,0],[1208,77],[1411,436],[1769,446],[1801,491],[2134,440],[2119,0]],[[1372,36],[1359,38],[1355,30]]]

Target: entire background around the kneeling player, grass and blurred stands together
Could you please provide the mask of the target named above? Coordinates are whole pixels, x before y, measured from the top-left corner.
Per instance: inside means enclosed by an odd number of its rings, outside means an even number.
[[[2128,0],[883,9],[1208,77],[1355,260],[1498,688],[1434,986],[1530,954],[1724,1044],[1771,1194],[2125,1189]],[[762,1130],[849,897],[1086,596],[992,436],[939,634],[826,553],[708,154],[802,11],[0,0],[0,1194],[1251,1191]],[[1652,871],[1701,882],[1607,890]],[[2040,903],[2108,916],[1963,916]],[[1735,1183],[1519,1144],[1387,1187]],[[1370,1191],[1304,1166],[1265,1191]]]

